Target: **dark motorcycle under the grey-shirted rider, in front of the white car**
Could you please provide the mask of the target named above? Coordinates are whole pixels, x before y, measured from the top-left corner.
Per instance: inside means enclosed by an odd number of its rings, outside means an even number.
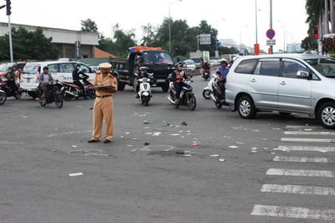
[[[46,104],[55,103],[57,108],[63,107],[63,96],[62,96],[62,88],[63,86],[58,83],[58,81],[50,81],[48,83],[51,85],[51,89],[46,93],[46,103],[44,103],[44,97],[41,90],[38,90],[38,102],[42,107],[45,107]]]

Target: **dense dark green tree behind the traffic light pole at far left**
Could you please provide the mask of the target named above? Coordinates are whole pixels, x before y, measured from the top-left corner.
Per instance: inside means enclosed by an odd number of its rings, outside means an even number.
[[[35,59],[45,61],[46,59],[58,58],[61,51],[55,43],[51,43],[52,37],[46,38],[42,28],[28,31],[19,26],[16,30],[11,29],[14,60]],[[9,60],[9,35],[0,37],[0,61]]]

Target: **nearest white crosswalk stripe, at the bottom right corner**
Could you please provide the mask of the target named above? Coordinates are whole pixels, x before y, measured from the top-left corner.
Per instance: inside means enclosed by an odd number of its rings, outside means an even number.
[[[305,207],[282,207],[274,205],[254,205],[251,215],[270,217],[292,217],[299,219],[335,220],[334,209],[309,209]]]

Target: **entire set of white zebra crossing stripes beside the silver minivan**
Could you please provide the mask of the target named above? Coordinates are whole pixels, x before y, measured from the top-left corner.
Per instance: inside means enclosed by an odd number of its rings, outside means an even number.
[[[302,137],[315,135],[321,136],[322,138],[281,138],[282,142],[296,142],[296,143],[324,143],[335,142],[335,132],[332,131],[317,131],[320,129],[316,126],[305,126],[305,125],[287,125],[287,129],[293,129],[284,131],[284,135],[301,135]],[[329,144],[330,145],[330,144]],[[331,146],[305,146],[305,145],[279,145],[276,149],[278,152],[295,152],[294,155],[276,155],[273,161],[277,163],[277,166],[282,163],[285,165],[287,162],[296,163],[297,166],[303,163],[310,163],[311,165],[325,165],[325,169],[329,169],[335,163],[335,158],[331,157],[330,154],[325,152],[335,152],[335,147]],[[324,155],[317,155],[316,157],[309,156],[297,156],[297,152],[322,152]],[[316,154],[316,153],[315,153]],[[309,153],[310,155],[310,153]],[[285,165],[287,167],[287,165]],[[302,168],[304,169],[304,168]],[[312,169],[312,168],[311,168]],[[331,170],[334,170],[331,169]],[[325,179],[331,180],[335,177],[334,171],[329,170],[301,170],[301,168],[288,169],[288,168],[269,168],[266,172],[268,176],[282,176],[281,179],[289,180],[294,182],[297,177],[324,177]],[[285,177],[285,178],[283,178]],[[301,178],[302,179],[302,178]],[[331,185],[333,186],[333,185]],[[273,194],[294,194],[299,196],[335,196],[335,187],[321,187],[312,185],[294,185],[294,184],[266,184],[262,185],[260,192],[273,193]],[[289,217],[297,219],[318,219],[326,221],[335,221],[335,209],[317,209],[315,207],[292,207],[276,206],[276,205],[264,205],[255,204],[252,209],[251,215],[259,217]],[[335,205],[334,205],[335,206]]]

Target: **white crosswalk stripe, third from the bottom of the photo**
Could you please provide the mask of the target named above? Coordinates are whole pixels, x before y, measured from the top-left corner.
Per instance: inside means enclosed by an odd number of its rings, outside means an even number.
[[[267,175],[297,176],[297,177],[335,177],[334,171],[326,170],[291,170],[275,169],[267,170]]]

